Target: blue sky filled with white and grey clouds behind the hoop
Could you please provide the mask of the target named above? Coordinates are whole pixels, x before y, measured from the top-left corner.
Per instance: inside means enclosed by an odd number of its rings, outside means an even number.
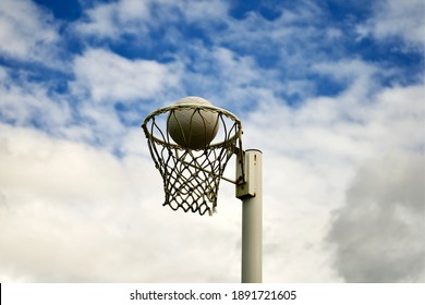
[[[185,96],[263,151],[264,282],[425,282],[424,5],[1,0],[0,282],[240,281],[234,185],[162,207]]]

